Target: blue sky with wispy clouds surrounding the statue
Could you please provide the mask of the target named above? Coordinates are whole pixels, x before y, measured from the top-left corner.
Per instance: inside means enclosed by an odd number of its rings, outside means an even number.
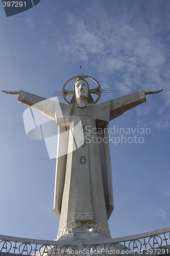
[[[164,89],[109,124],[151,128],[143,143],[110,144],[112,238],[169,226],[169,11],[168,0],[41,0],[11,17],[0,9],[1,90],[50,98],[80,65],[112,90],[99,103]],[[16,96],[0,98],[1,234],[54,240],[56,160],[48,159],[44,141],[26,137],[27,107]]]

